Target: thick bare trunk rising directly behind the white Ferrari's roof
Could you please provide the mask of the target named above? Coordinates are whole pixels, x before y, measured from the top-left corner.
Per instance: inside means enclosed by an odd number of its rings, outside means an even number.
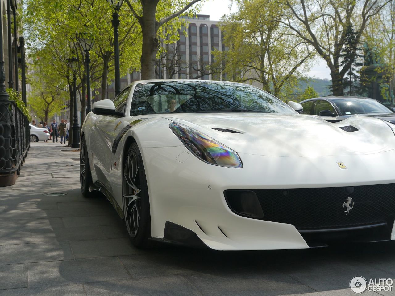
[[[153,2],[153,3],[152,3]],[[141,79],[155,79],[155,61],[159,40],[156,38],[156,6],[157,1],[146,1],[141,17],[143,47],[141,52]]]

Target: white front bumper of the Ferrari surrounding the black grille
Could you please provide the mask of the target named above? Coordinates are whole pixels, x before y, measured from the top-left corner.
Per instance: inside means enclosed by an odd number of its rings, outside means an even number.
[[[163,238],[165,224],[169,221],[190,229],[204,244],[218,250],[301,249],[312,246],[307,236],[290,223],[256,220],[235,214],[226,204],[225,190],[395,183],[395,172],[390,169],[395,166],[395,151],[288,158],[239,154],[244,165],[240,169],[205,164],[190,155],[183,145],[145,148],[141,153],[150,192],[151,235]],[[340,161],[347,169],[339,168],[337,162]],[[385,200],[378,202],[386,203]],[[287,202],[279,199],[274,205],[281,209],[287,207]],[[320,206],[320,203],[306,205],[312,209]],[[342,205],[339,207],[345,214]],[[392,231],[388,239],[395,239],[393,220],[387,223],[387,227]]]

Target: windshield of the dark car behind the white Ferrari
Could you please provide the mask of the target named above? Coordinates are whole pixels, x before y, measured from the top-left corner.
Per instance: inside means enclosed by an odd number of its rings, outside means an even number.
[[[373,99],[332,99],[342,115],[367,113],[392,113],[386,106]]]

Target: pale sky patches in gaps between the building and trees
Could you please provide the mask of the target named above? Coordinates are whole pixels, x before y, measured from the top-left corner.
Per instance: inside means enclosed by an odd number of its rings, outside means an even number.
[[[206,0],[203,3],[203,7],[200,14],[210,15],[210,20],[220,20],[222,15],[228,14],[229,12],[235,12],[237,9],[236,4],[229,7],[231,0]],[[331,79],[329,75],[330,71],[326,65],[326,62],[322,58],[316,58],[316,61],[312,65],[307,76],[317,77],[322,79]]]

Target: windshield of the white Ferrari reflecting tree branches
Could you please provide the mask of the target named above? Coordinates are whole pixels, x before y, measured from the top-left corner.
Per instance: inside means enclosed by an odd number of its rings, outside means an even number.
[[[246,84],[161,81],[137,84],[130,115],[195,112],[296,113],[276,97]]]

